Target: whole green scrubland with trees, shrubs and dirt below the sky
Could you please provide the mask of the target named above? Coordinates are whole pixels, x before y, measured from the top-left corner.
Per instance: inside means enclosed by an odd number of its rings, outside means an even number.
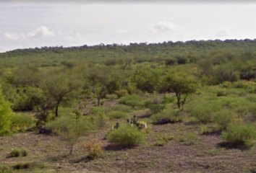
[[[255,40],[13,50],[0,66],[0,172],[256,171]]]

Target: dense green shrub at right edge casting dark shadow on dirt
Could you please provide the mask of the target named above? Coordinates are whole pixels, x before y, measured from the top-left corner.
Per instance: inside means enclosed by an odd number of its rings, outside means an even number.
[[[256,138],[256,128],[254,125],[230,123],[221,133],[221,138],[229,146],[248,148]]]

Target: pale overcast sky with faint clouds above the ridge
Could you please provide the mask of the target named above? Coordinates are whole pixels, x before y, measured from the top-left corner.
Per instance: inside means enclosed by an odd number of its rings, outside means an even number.
[[[44,46],[256,37],[252,1],[120,1],[1,0],[0,53]]]

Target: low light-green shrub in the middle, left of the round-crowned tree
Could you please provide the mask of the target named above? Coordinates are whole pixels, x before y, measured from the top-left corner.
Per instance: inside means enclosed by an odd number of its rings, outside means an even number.
[[[120,104],[124,104],[130,107],[139,107],[142,108],[144,107],[144,102],[142,100],[142,97],[138,96],[138,95],[127,95],[124,97],[121,97],[121,99],[119,99],[119,103]]]

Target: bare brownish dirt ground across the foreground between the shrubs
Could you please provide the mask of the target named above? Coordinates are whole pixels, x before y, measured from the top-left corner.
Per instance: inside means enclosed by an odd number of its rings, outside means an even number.
[[[107,106],[111,106],[108,105]],[[116,103],[114,103],[116,104]],[[143,115],[143,113],[138,113]],[[125,120],[120,120],[125,121]],[[221,148],[219,134],[201,135],[200,124],[176,123],[150,125],[150,133],[145,143],[134,148],[111,146],[104,139],[109,127],[80,138],[74,146],[72,156],[63,141],[56,136],[35,132],[17,133],[15,136],[0,138],[0,165],[13,165],[17,162],[37,163],[43,172],[256,172],[256,147],[247,150]],[[197,136],[195,143],[182,143],[180,138],[187,133]],[[155,146],[158,136],[173,136],[164,146]],[[103,143],[103,155],[89,160],[87,152],[80,146],[81,141],[97,138]],[[29,149],[28,156],[7,158],[12,148]],[[33,170],[27,170],[33,172]]]

